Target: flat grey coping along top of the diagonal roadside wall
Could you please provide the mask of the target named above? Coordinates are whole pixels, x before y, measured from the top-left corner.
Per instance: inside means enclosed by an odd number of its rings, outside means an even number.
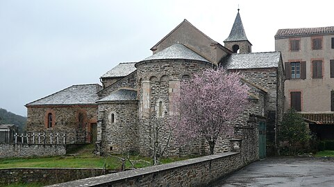
[[[91,185],[99,186],[99,185],[103,185],[103,184],[108,184],[110,182],[121,181],[121,180],[124,180],[124,179],[131,179],[131,178],[139,177],[139,176],[142,176],[142,175],[153,174],[155,172],[160,172],[162,170],[171,170],[173,168],[183,168],[183,167],[190,166],[192,164],[201,163],[201,162],[205,162],[205,161],[212,161],[212,160],[220,159],[220,158],[223,158],[223,157],[233,156],[235,154],[240,154],[240,152],[224,152],[224,153],[220,153],[220,154],[212,154],[212,155],[208,155],[208,156],[205,156],[205,157],[198,157],[198,158],[194,158],[194,159],[187,159],[187,160],[184,160],[184,161],[176,161],[176,162],[173,162],[173,163],[165,163],[165,164],[158,165],[158,166],[151,166],[151,167],[147,167],[147,168],[138,168],[136,170],[128,170],[128,171],[124,171],[124,172],[117,172],[117,173],[113,173],[113,174],[101,175],[101,176],[97,176],[97,177],[80,179],[80,180],[76,180],[76,181],[69,181],[69,182],[62,183],[62,184],[53,184],[51,186],[52,187],[56,187],[56,186],[91,186]]]

